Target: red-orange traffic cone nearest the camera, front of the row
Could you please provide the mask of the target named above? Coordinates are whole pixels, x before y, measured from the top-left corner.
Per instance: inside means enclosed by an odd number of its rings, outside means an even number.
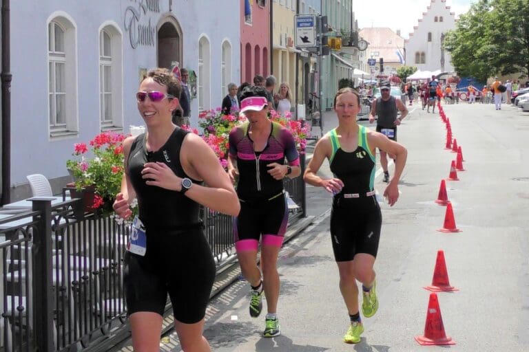
[[[446,336],[444,332],[443,318],[439,309],[437,294],[430,294],[428,301],[428,311],[426,311],[426,324],[424,325],[424,335],[415,336],[415,340],[423,346],[434,344],[455,344],[455,341]]]

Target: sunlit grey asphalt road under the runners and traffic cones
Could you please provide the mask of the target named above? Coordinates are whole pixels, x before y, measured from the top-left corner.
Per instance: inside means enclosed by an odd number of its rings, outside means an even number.
[[[266,304],[260,318],[250,318],[248,284],[241,280],[209,306],[205,336],[213,351],[529,351],[529,114],[505,105],[444,109],[466,160],[460,181],[447,181],[462,232],[437,232],[446,207],[434,200],[455,159],[444,150],[444,123],[438,113],[411,107],[399,130],[408,148],[402,195],[393,208],[382,204],[375,263],[380,309],[363,319],[362,341],[342,342],[349,317],[329,239],[331,197],[308,187],[316,221],[280,253],[282,336],[261,337]],[[332,113],[325,118],[327,129],[335,126]],[[330,176],[327,164],[321,173]],[[431,284],[437,250],[444,250],[450,283],[459,289],[438,294],[444,328],[456,344],[421,347],[414,336],[424,332],[430,294],[422,287]],[[174,335],[163,341],[163,351],[179,351]]]

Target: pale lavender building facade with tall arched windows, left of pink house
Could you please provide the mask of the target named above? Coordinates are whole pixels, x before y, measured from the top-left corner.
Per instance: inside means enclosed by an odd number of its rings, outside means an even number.
[[[227,84],[240,82],[239,12],[236,1],[18,0],[11,8],[12,186],[42,173],[56,190],[74,143],[143,124],[135,94],[153,67],[196,73],[191,126],[198,126],[199,111],[220,107]]]

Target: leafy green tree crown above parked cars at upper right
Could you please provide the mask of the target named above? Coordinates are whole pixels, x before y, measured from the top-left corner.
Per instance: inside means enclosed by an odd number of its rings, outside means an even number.
[[[459,76],[529,73],[529,0],[479,0],[446,34]]]

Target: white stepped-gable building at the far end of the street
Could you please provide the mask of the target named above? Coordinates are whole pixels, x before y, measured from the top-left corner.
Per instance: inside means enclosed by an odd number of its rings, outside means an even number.
[[[410,39],[404,42],[406,65],[421,71],[453,72],[450,53],[442,49],[442,42],[446,32],[455,29],[456,21],[455,12],[450,12],[446,0],[431,0],[410,33]]]

